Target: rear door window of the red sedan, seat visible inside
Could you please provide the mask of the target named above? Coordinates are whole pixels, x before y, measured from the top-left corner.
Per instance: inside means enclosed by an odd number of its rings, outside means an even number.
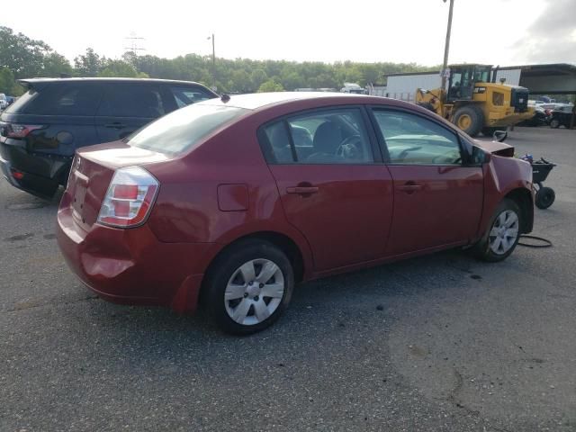
[[[301,114],[268,125],[265,133],[273,163],[374,162],[362,113],[357,108]]]

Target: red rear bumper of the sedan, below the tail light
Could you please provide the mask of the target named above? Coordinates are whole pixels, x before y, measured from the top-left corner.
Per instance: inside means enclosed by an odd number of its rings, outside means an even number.
[[[66,197],[64,198],[66,199]],[[58,211],[58,246],[67,265],[94,293],[121,304],[196,309],[211,243],[163,243],[147,225],[81,229],[68,207]]]

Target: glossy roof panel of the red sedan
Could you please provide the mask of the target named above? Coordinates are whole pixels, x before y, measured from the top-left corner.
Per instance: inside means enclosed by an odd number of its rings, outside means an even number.
[[[369,103],[370,101],[383,102],[385,98],[368,96],[365,94],[328,93],[328,92],[276,92],[276,93],[252,93],[233,94],[227,102],[220,99],[209,99],[197,104],[221,105],[243,108],[245,110],[257,110],[270,105],[282,105],[302,100],[329,100],[334,103]]]

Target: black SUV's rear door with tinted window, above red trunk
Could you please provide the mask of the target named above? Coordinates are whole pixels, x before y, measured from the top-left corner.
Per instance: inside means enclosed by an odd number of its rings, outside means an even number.
[[[125,138],[165,113],[156,83],[108,83],[95,117],[100,142]]]

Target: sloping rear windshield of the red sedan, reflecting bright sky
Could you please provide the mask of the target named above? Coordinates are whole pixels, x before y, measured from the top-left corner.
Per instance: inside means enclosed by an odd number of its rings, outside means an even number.
[[[150,123],[127,142],[130,146],[178,155],[247,111],[233,106],[189,105]]]

